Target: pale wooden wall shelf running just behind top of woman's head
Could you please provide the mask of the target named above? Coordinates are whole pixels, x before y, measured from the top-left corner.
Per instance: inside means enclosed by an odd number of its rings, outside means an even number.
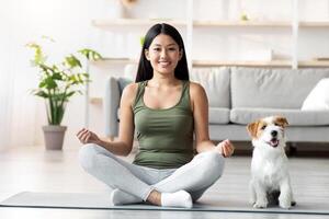
[[[170,23],[172,25],[186,25],[185,21],[177,21],[170,19],[103,19],[103,20],[92,20],[91,24],[98,27],[106,26],[143,26],[143,25],[154,25],[156,23]]]

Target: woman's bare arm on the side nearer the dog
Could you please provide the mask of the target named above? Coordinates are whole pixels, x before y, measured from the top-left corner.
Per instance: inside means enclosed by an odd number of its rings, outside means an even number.
[[[190,100],[194,117],[196,151],[201,153],[204,151],[216,150],[224,157],[230,157],[234,152],[234,146],[229,140],[222,141],[217,146],[209,140],[208,100],[204,89],[197,83],[191,82],[190,84]]]

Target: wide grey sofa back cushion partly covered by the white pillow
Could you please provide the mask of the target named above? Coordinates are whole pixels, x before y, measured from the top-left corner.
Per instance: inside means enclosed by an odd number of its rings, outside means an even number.
[[[300,108],[329,69],[232,68],[232,107]]]

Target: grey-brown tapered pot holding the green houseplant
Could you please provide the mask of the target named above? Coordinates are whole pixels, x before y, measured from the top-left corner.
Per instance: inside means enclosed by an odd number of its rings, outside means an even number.
[[[46,150],[61,150],[66,126],[43,126]]]

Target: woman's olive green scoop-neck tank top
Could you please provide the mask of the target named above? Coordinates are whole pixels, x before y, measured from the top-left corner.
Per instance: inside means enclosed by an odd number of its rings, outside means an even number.
[[[147,81],[138,83],[133,105],[139,150],[134,163],[155,169],[179,168],[193,159],[193,113],[190,82],[182,81],[180,101],[170,108],[154,110],[144,104]]]

